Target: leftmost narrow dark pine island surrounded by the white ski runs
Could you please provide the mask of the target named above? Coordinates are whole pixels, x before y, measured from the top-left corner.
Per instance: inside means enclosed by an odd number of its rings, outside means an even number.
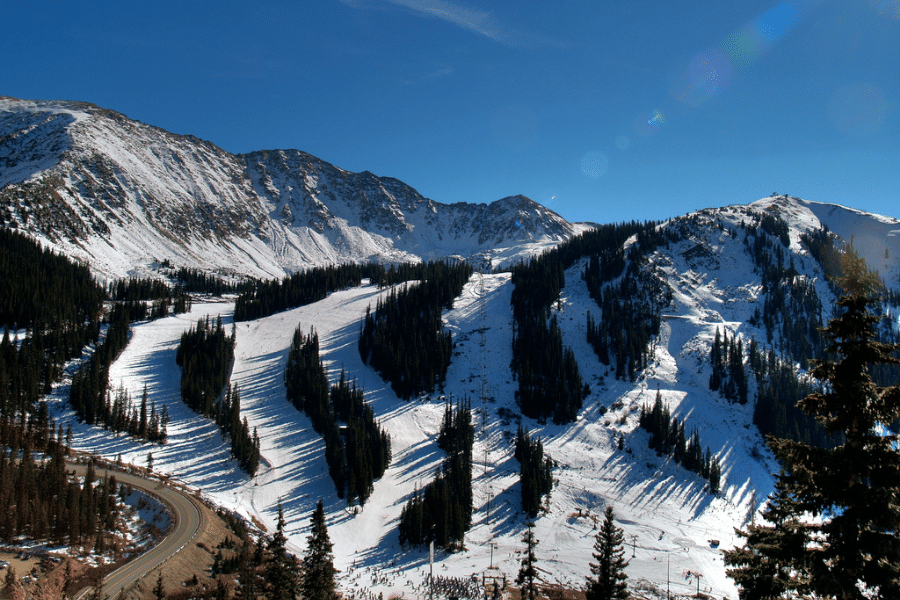
[[[231,443],[231,455],[251,477],[259,468],[259,436],[241,420],[241,396],[232,387],[236,335],[226,335],[222,317],[210,325],[209,316],[181,335],[175,362],[181,367],[181,398],[194,412],[212,419]]]

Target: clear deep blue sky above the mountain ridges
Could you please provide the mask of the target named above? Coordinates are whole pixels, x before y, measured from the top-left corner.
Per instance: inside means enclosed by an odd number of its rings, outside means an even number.
[[[900,217],[900,0],[0,4],[0,95],[572,221]]]

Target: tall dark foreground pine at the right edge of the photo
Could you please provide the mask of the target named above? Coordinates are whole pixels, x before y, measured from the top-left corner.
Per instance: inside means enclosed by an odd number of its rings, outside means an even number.
[[[870,366],[900,364],[896,344],[875,339],[869,311],[880,287],[865,261],[848,252],[838,283],[840,315],[825,333],[836,360],[814,361],[826,391],[798,403],[834,448],[770,437],[784,465],[765,517],[739,532],[743,548],[726,552],[741,598],[900,598],[900,386],[879,387]]]

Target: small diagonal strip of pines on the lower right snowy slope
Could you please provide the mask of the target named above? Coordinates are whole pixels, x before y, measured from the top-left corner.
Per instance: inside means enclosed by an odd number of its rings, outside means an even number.
[[[650,432],[649,445],[658,454],[671,456],[685,469],[699,474],[709,481],[709,489],[715,494],[719,491],[722,469],[718,459],[700,444],[700,434],[695,429],[690,437],[685,434],[685,421],[673,417],[669,407],[662,401],[659,390],[653,406],[641,405],[640,425]]]

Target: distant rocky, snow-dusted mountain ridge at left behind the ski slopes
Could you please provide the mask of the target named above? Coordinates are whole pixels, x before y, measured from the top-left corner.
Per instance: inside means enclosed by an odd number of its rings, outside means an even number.
[[[312,265],[497,265],[584,227],[524,196],[442,204],[298,150],[230,154],[83,102],[0,98],[0,225],[109,277],[177,266],[280,277]]]

